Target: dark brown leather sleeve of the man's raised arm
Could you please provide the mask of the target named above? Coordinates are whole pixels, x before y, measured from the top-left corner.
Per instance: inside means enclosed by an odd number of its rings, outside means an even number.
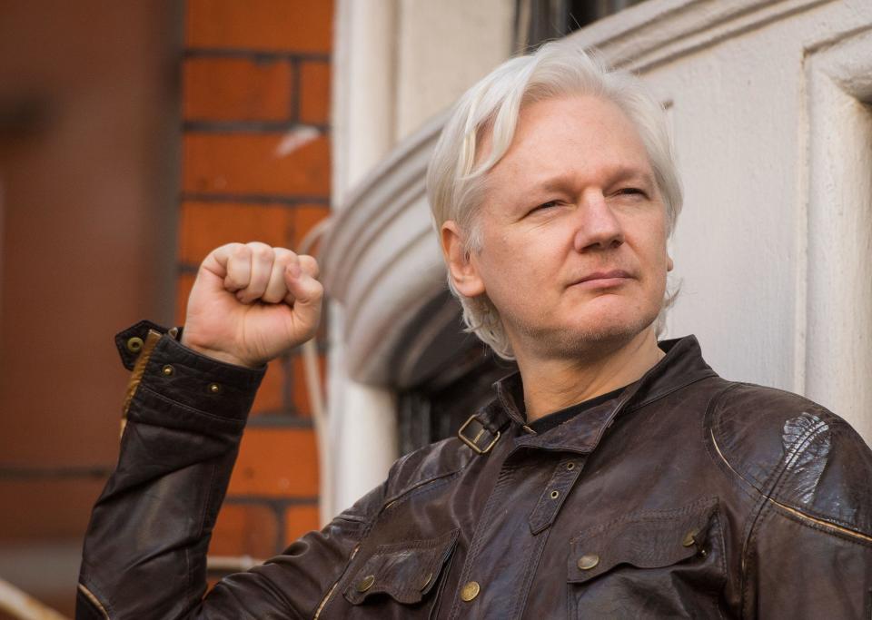
[[[207,359],[155,330],[139,347],[120,457],[85,536],[76,617],[312,617],[381,506],[381,487],[203,597],[209,539],[263,369]]]

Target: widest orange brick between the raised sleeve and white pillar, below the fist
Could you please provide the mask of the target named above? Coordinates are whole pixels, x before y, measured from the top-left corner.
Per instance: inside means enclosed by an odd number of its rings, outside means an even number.
[[[248,428],[233,468],[233,495],[314,497],[318,455],[311,428]]]

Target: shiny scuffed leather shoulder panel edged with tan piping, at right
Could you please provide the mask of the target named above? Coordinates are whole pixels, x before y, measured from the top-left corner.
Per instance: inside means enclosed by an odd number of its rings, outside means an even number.
[[[797,394],[728,383],[707,427],[715,458],[763,497],[872,536],[872,451],[844,419]]]

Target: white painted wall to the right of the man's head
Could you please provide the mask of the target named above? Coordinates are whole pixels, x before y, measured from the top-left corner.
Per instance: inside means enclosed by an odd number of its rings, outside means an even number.
[[[745,4],[666,62],[629,63],[671,103],[686,191],[667,336],[870,440],[872,3]]]

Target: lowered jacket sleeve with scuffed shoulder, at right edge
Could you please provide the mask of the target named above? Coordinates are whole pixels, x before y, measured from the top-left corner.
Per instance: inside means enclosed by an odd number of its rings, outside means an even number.
[[[744,452],[734,467],[759,494],[744,532],[743,617],[869,618],[872,451],[815,403],[746,391],[757,413],[734,434]]]

